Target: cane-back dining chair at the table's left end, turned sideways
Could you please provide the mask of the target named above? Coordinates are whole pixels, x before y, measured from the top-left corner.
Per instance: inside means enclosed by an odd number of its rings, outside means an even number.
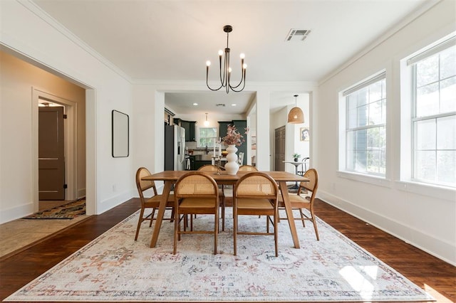
[[[152,221],[155,220],[155,211],[160,206],[160,200],[162,199],[162,195],[157,193],[157,187],[155,186],[155,182],[152,180],[141,180],[145,176],[150,176],[150,171],[145,167],[140,167],[138,171],[136,171],[136,187],[138,188],[138,193],[140,195],[141,201],[141,212],[140,218],[138,220],[138,227],[136,228],[136,235],[135,240],[138,240],[138,234],[140,233],[141,223],[144,221],[150,221],[149,227],[152,226]],[[144,191],[147,189],[153,189],[154,195],[150,198],[144,197]],[[152,208],[152,213],[148,215],[144,215],[146,208]],[[170,194],[167,202],[166,202],[166,209],[171,209],[171,217],[163,218],[163,220],[174,220],[174,196]]]

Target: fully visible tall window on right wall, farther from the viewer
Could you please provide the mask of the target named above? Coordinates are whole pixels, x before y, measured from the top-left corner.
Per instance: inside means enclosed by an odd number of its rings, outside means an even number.
[[[343,92],[345,171],[385,177],[386,80],[375,75]]]

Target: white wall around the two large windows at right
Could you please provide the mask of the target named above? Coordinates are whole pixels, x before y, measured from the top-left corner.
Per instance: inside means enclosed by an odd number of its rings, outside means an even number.
[[[314,102],[318,196],[442,260],[456,264],[455,191],[406,184],[400,176],[400,60],[456,30],[455,1],[440,1],[322,83]],[[338,92],[386,69],[387,159],[383,181],[338,173]],[[315,158],[314,158],[315,159]]]

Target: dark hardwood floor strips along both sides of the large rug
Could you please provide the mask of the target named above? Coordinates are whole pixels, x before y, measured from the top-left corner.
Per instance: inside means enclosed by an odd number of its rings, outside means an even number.
[[[1,260],[1,301],[139,208],[139,199],[130,199],[100,216],[91,216],[52,238]],[[456,267],[323,201],[316,201],[316,215],[432,294],[437,302],[455,302]]]

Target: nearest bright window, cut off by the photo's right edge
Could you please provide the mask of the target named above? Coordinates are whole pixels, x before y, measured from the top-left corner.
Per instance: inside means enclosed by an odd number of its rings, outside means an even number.
[[[456,37],[407,61],[411,70],[412,179],[456,186]]]

